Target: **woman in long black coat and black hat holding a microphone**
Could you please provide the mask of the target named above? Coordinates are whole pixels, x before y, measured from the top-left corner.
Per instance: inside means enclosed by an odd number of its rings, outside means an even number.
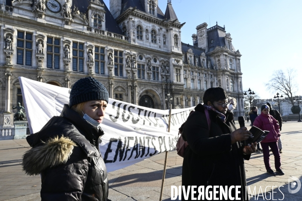
[[[239,185],[239,197],[246,200],[244,159],[250,159],[255,145],[243,147],[240,141],[247,140],[250,131],[246,127],[236,129],[222,88],[206,90],[203,101],[204,105],[198,104],[184,125],[183,137],[189,146],[184,156],[182,185],[186,189],[192,185],[204,186],[204,189],[214,185]],[[210,129],[205,110],[209,113]],[[231,195],[235,196],[234,189]],[[219,189],[217,197],[220,197]],[[184,192],[182,199],[185,200]],[[188,200],[191,200],[191,194]]]

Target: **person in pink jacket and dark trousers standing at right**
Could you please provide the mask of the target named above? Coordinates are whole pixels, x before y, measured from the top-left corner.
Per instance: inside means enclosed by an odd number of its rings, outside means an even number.
[[[263,160],[267,173],[276,175],[275,172],[271,169],[270,165],[270,147],[275,157],[276,172],[284,175],[284,172],[281,170],[281,157],[277,144],[280,137],[279,124],[278,121],[269,114],[269,110],[270,109],[268,105],[262,105],[261,114],[256,117],[253,125],[262,130],[270,131],[266,138],[261,142],[261,147],[263,149]]]

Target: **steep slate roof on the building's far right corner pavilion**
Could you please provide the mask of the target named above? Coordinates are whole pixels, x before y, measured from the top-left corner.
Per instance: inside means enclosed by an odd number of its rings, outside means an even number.
[[[220,27],[216,24],[216,26],[213,26],[208,29],[208,51],[213,51],[216,46],[225,46],[225,28]],[[211,43],[211,40],[214,40],[213,43]]]

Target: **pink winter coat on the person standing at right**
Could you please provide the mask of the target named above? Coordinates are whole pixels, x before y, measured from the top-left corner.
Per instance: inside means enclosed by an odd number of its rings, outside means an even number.
[[[277,142],[280,137],[280,130],[278,121],[272,115],[266,115],[261,112],[254,121],[254,126],[262,130],[270,131],[267,137],[261,143]]]

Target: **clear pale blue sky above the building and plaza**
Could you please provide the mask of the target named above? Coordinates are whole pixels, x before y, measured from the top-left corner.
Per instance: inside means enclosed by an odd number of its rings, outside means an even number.
[[[104,0],[109,8],[109,0]],[[208,28],[225,25],[232,44],[239,49],[243,89],[260,98],[272,98],[277,92],[267,91],[266,83],[279,69],[296,69],[299,82],[296,95],[302,95],[302,1],[205,1],[172,0],[172,6],[182,28],[182,41],[192,44],[196,26],[206,22]],[[166,0],[159,0],[165,12]],[[279,92],[280,93],[280,92]]]

